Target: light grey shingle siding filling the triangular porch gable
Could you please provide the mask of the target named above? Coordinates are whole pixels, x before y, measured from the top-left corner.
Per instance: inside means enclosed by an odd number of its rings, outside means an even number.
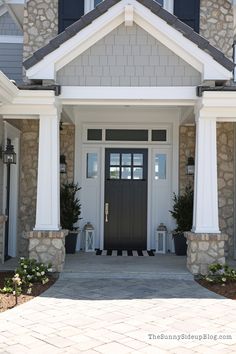
[[[119,26],[62,68],[69,86],[195,86],[200,73],[141,27]]]

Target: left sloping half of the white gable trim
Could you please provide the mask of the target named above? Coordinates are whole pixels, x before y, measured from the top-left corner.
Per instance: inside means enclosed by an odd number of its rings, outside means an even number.
[[[124,22],[124,3],[114,5],[78,34],[26,71],[29,79],[55,79],[56,71]],[[79,43],[79,45],[78,45]]]

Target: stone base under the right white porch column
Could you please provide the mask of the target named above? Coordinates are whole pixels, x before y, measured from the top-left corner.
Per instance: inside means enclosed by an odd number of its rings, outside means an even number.
[[[225,234],[195,234],[185,232],[187,238],[187,268],[194,275],[206,275],[212,263],[225,264]]]

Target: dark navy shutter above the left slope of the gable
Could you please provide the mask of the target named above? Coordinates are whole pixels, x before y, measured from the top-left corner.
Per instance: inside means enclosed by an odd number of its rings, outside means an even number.
[[[59,0],[59,28],[62,32],[72,25],[84,14],[84,1],[82,0]]]

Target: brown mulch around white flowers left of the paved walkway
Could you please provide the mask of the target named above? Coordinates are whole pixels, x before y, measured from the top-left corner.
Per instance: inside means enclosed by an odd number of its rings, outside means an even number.
[[[4,286],[4,279],[5,278],[12,278],[14,276],[14,272],[0,272],[0,288],[2,289]],[[57,276],[56,275],[51,275],[49,277],[49,282],[42,285],[42,284],[35,284],[32,288],[32,293],[30,295],[27,294],[22,294],[18,296],[18,305],[23,304],[24,302],[27,302],[31,299],[33,299],[36,296],[39,296],[42,294],[45,290],[50,288],[56,281],[57,281]],[[4,312],[8,309],[11,309],[15,307],[15,296],[11,294],[1,294],[0,293],[0,312]]]

